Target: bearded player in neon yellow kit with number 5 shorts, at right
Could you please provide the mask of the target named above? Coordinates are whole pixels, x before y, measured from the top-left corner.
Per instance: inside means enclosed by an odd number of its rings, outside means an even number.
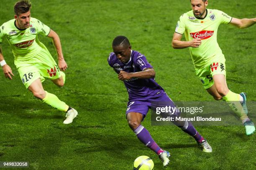
[[[215,100],[225,100],[231,109],[241,118],[246,135],[255,131],[253,122],[247,116],[246,93],[234,93],[226,83],[225,57],[217,42],[218,27],[221,23],[238,28],[247,28],[255,24],[256,18],[237,19],[220,10],[206,9],[207,0],[191,0],[192,10],[180,16],[174,32],[172,47],[189,47],[195,65],[196,75]],[[181,41],[182,35],[186,41]]]

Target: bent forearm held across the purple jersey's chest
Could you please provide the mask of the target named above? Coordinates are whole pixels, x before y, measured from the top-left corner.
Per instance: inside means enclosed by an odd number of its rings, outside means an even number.
[[[156,76],[156,72],[153,68],[146,68],[140,72],[120,71],[120,73],[118,74],[118,79],[122,81],[129,80],[131,78],[148,79],[148,78],[154,78],[155,76]]]

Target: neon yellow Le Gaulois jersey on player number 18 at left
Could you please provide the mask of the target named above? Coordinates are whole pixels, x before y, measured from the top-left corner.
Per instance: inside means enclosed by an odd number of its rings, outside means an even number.
[[[0,43],[6,37],[15,60],[26,61],[38,54],[41,48],[46,49],[38,40],[38,34],[47,36],[49,32],[50,28],[36,18],[31,18],[29,28],[24,30],[17,28],[13,19],[0,26]]]

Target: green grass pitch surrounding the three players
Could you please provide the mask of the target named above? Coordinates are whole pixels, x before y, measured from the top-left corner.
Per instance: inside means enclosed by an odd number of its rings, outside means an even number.
[[[0,24],[13,19],[14,3],[1,0]],[[255,6],[255,0],[209,0],[208,8],[254,18]],[[64,113],[26,90],[5,40],[3,54],[15,77],[7,80],[0,69],[0,161],[28,161],[31,170],[131,170],[135,158],[147,155],[156,170],[163,169],[128,127],[128,94],[107,58],[113,38],[125,35],[154,66],[156,81],[172,100],[213,101],[195,75],[189,50],[171,47],[177,20],[189,10],[189,0],[32,0],[31,16],[58,33],[69,67],[63,88],[46,80],[44,89],[76,108],[79,116],[64,125]],[[255,32],[255,25],[243,30],[220,25],[218,30],[228,87],[247,92],[250,101],[256,100]],[[51,40],[40,40],[56,59]],[[255,114],[251,117],[256,121]],[[247,137],[243,126],[197,126],[213,148],[209,154],[177,127],[151,126],[150,113],[143,125],[171,152],[167,170],[256,169],[256,138]]]

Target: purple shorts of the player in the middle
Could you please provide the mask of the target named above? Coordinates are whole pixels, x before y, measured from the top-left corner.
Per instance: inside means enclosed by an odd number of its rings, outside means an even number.
[[[146,117],[148,110],[156,110],[156,107],[176,107],[174,102],[166,94],[166,92],[161,91],[158,95],[138,98],[136,100],[130,100],[127,103],[126,115],[129,112],[138,112],[143,115],[143,118]]]

